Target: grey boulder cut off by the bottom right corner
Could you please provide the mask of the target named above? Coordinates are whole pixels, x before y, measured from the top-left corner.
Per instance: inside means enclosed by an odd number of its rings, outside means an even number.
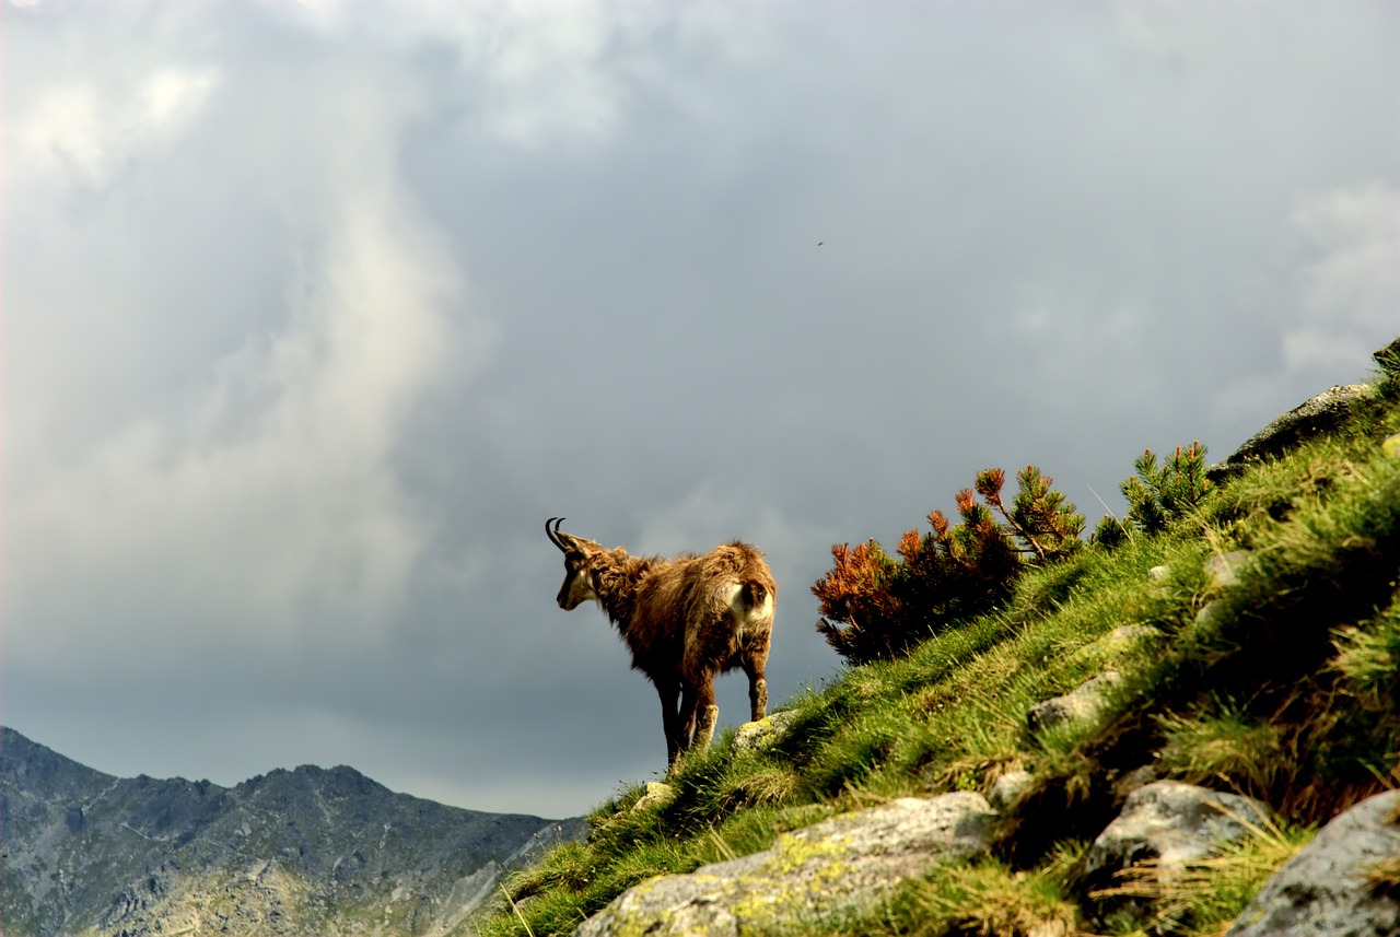
[[[1400,934],[1400,901],[1376,895],[1365,874],[1400,859],[1400,790],[1364,800],[1284,863],[1226,937]]]

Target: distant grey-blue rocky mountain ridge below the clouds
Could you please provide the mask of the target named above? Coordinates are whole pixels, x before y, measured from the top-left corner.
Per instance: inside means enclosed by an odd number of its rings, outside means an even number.
[[[396,794],[351,768],[112,778],[0,729],[0,930],[442,933],[578,821]]]

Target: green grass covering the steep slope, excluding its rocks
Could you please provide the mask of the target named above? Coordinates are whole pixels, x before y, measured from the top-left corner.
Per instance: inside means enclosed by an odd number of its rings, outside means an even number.
[[[735,754],[720,740],[683,764],[661,810],[630,813],[641,789],[603,804],[588,843],[515,875],[514,906],[462,933],[567,934],[651,875],[766,849],[781,831],[892,797],[986,793],[1015,769],[1035,780],[994,857],[935,873],[830,933],[1014,934],[1047,922],[1067,934],[1141,933],[1089,920],[1078,868],[1144,765],[1278,814],[1170,894],[1147,889],[1168,931],[1221,933],[1317,825],[1400,786],[1400,462],[1380,449],[1400,432],[1396,383],[1173,531],[1026,575],[1001,611],[788,701],[795,723],[773,747]],[[1253,565],[1239,586],[1214,590],[1204,561],[1239,548]],[[1156,565],[1170,573],[1152,583]],[[1163,638],[1100,641],[1130,622]],[[1107,667],[1127,675],[1107,713],[1028,731],[1033,703]]]

